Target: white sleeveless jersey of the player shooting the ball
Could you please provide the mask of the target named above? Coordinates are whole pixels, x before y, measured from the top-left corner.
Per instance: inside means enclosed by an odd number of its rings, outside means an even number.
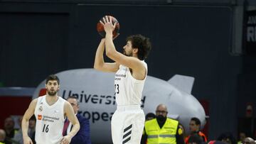
[[[146,67],[146,62],[141,61]],[[119,70],[114,77],[115,97],[117,106],[141,105],[142,91],[146,76],[143,80],[134,79],[129,67],[119,66]]]

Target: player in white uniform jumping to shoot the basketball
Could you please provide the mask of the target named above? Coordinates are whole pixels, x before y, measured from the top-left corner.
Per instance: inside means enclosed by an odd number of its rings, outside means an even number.
[[[116,23],[105,16],[103,24],[106,36],[102,38],[95,55],[94,67],[103,72],[116,72],[114,79],[117,110],[111,121],[114,144],[138,144],[142,138],[145,116],[141,109],[142,90],[147,66],[144,59],[151,50],[149,38],[132,35],[124,45],[124,55],[114,48],[112,31]],[[114,62],[105,62],[103,53]]]

